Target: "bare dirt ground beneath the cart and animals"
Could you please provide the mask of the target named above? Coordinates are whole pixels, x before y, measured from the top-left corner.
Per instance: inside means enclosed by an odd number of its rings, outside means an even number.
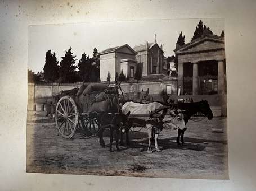
[[[146,129],[130,132],[131,146],[116,152],[100,147],[97,137],[77,132],[74,139],[58,136],[44,113],[28,114],[27,166],[30,173],[228,179],[227,118],[189,121],[186,146],[177,146],[177,131],[163,129],[161,152],[148,154]],[[212,132],[213,128],[223,133]],[[109,132],[104,133],[106,146]]]

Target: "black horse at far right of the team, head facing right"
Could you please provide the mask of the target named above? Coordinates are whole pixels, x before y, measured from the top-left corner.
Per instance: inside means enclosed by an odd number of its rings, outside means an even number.
[[[192,103],[178,103],[178,109],[185,110],[182,111],[184,115],[184,122],[187,124],[188,120],[192,117],[192,115],[195,115],[196,113],[203,113],[205,117],[207,117],[209,120],[213,118],[212,110],[210,109],[210,106],[207,102],[207,100],[201,100],[198,102],[192,102]],[[177,137],[177,144],[185,146],[184,142],[184,132],[187,128],[184,128],[183,130],[178,129],[178,137]],[[179,142],[179,138],[181,143]]]

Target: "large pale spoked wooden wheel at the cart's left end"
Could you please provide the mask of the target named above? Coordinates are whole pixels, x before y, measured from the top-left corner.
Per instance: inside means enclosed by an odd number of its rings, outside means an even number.
[[[62,137],[71,139],[74,136],[78,127],[78,109],[70,96],[63,96],[58,101],[55,122]]]

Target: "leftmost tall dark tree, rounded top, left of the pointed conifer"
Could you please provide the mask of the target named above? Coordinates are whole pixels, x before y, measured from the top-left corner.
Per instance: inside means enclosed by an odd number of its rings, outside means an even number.
[[[46,62],[43,67],[44,79],[47,82],[54,82],[59,78],[59,62],[57,61],[55,53],[51,50],[46,52]]]

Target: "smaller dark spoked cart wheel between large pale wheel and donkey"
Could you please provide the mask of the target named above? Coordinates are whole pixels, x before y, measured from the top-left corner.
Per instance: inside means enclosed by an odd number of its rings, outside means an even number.
[[[97,113],[89,113],[87,117],[81,120],[81,122],[84,130],[89,131],[91,136],[97,136],[98,131],[100,130]]]

